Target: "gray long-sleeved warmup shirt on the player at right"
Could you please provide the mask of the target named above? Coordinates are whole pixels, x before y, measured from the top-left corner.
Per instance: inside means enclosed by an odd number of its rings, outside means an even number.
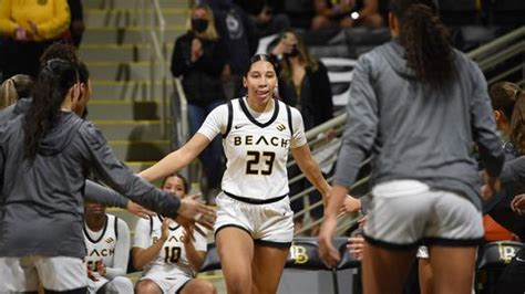
[[[439,88],[415,80],[395,40],[359,57],[336,185],[351,187],[371,155],[372,185],[421,180],[464,195],[481,209],[473,141],[492,176],[500,174],[504,153],[482,72],[463,53],[454,54],[456,75]]]

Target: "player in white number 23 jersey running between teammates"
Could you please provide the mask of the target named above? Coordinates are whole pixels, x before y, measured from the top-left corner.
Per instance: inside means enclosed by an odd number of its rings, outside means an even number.
[[[294,238],[288,153],[325,203],[331,190],[311,156],[299,111],[274,98],[275,69],[268,55],[254,56],[244,76],[248,95],[215,108],[186,145],[141,174],[150,181],[165,177],[223,136],[227,166],[215,238],[230,294],[277,292]]]

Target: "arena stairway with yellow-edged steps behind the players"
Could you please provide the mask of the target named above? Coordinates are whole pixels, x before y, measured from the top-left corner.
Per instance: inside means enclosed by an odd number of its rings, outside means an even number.
[[[145,2],[150,12],[152,6]],[[159,3],[171,56],[174,40],[185,31],[188,3]],[[83,0],[83,6],[86,28],[79,55],[90,70],[93,87],[87,118],[103,133],[119,159],[135,171],[143,170],[169,151],[161,128],[162,97],[150,97],[147,88],[152,45],[143,41],[142,25],[152,23],[151,13],[142,18],[140,0]],[[161,86],[159,81],[154,83]],[[110,212],[134,230],[134,216],[120,209]]]

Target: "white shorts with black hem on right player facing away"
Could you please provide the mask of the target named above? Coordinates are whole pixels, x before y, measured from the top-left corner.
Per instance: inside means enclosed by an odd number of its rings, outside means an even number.
[[[482,213],[459,193],[415,180],[372,188],[364,237],[374,245],[415,249],[420,244],[475,246],[483,240]]]

